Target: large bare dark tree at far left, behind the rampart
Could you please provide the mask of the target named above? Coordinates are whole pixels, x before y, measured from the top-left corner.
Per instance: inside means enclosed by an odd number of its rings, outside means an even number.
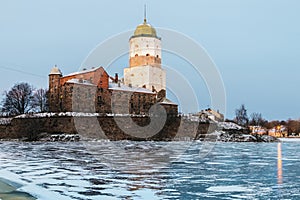
[[[32,86],[28,83],[17,83],[8,92],[5,91],[2,112],[9,115],[30,112],[34,108],[32,90]]]

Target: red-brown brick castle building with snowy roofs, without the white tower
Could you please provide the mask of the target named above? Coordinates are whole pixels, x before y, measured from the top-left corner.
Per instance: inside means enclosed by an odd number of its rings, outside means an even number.
[[[156,103],[177,115],[177,105],[166,100],[164,91],[126,86],[103,67],[62,76],[55,66],[49,74],[50,112],[148,114]]]

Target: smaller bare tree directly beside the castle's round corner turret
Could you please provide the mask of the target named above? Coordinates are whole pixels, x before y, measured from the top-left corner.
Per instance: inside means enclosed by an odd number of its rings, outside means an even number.
[[[46,89],[40,88],[34,91],[33,94],[33,104],[37,112],[47,112],[48,111],[48,91]]]

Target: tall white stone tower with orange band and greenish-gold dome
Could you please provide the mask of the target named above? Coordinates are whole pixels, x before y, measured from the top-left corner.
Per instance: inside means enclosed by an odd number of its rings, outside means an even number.
[[[166,90],[166,72],[161,68],[161,38],[147,23],[136,27],[129,40],[129,67],[124,69],[126,85],[159,92]]]

